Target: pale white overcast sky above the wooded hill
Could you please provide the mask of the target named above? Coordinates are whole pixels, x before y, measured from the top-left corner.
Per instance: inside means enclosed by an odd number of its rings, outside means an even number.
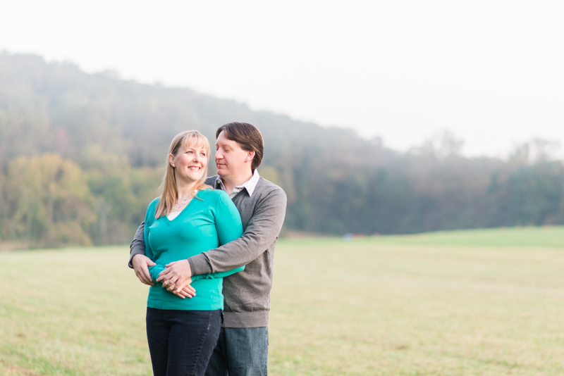
[[[2,1],[0,50],[191,87],[405,150],[564,146],[564,1]],[[244,120],[244,119],[234,119]]]

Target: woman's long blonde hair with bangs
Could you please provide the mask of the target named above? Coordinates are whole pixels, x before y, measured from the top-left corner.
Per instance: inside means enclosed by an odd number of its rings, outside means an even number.
[[[207,138],[198,132],[197,130],[185,130],[184,132],[180,132],[176,134],[171,142],[171,147],[168,149],[168,154],[172,154],[176,156],[178,151],[183,151],[183,149],[187,146],[203,146],[206,150],[206,155],[209,160],[209,141]],[[202,174],[202,179],[196,183],[195,191],[202,191],[209,187],[209,185],[205,184],[204,181],[207,177],[207,165],[204,169],[204,173]],[[176,196],[178,196],[178,191],[176,190],[176,177],[174,175],[174,168],[171,166],[171,163],[168,162],[168,156],[166,156],[166,167],[164,170],[164,177],[161,187],[159,188],[161,191],[161,199],[157,204],[157,210],[154,213],[155,218],[161,218],[164,215],[168,215],[173,211],[174,204],[176,203]],[[196,197],[197,198],[197,197]]]

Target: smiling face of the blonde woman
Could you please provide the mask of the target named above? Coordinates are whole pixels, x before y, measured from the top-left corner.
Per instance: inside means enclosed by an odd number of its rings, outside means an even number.
[[[174,167],[176,181],[186,183],[202,179],[207,171],[207,150],[204,145],[197,145],[195,140],[190,140],[187,145],[180,147],[176,155],[168,155],[168,163]]]

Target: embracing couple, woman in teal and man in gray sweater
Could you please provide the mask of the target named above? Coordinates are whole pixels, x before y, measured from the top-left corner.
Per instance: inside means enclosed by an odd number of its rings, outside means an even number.
[[[248,123],[209,142],[176,135],[162,194],[131,243],[130,267],[151,285],[147,340],[154,375],[266,375],[274,248],[286,194],[259,176],[262,134]]]

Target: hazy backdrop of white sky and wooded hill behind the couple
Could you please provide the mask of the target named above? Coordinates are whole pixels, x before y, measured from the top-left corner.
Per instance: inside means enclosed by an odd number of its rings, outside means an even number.
[[[0,249],[129,242],[173,136],[231,121],[264,135],[283,236],[563,225],[563,10],[4,4]]]

